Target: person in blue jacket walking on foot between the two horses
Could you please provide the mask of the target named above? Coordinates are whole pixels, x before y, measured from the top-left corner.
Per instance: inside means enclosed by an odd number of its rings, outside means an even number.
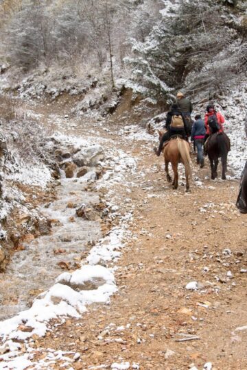
[[[194,141],[197,149],[197,163],[200,163],[200,168],[204,167],[204,158],[202,153],[202,145],[206,134],[206,127],[200,114],[196,114],[195,121],[191,131],[191,141]]]

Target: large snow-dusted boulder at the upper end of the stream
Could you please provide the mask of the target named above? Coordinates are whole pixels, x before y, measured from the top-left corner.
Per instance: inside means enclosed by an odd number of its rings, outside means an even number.
[[[104,159],[104,150],[101,145],[94,145],[93,147],[81,149],[73,156],[73,162],[78,167],[95,166],[99,160]]]

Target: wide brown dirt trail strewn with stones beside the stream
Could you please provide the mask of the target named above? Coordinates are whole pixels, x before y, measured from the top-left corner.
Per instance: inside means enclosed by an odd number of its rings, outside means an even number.
[[[97,135],[138,159],[128,179],[131,193],[115,188],[123,213],[126,198],[134,205],[132,238],[115,273],[119,291],[110,306],[90,306],[82,319],[68,319],[34,347],[79,352],[82,362],[74,369],[123,361],[139,369],[202,369],[205,362],[213,369],[247,369],[247,330],[235,330],[247,325],[241,272],[247,268],[247,220],[235,208],[238,182],[193,182],[187,195],[184,186],[172,190],[152,143],[140,149],[140,142],[117,134],[119,127],[106,128]],[[86,130],[80,126],[77,134]],[[209,175],[208,164],[196,175]],[[200,289],[186,290],[193,281]],[[178,341],[191,336],[198,338]]]

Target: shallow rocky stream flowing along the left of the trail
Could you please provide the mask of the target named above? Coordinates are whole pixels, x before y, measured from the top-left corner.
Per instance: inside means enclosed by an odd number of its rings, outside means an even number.
[[[26,245],[24,251],[14,254],[0,280],[0,320],[28,308],[34,297],[52,286],[62,273],[59,262],[71,262],[73,267],[78,257],[80,260],[86,243],[100,238],[99,222],[84,221],[76,216],[75,208],[67,207],[69,202],[78,206],[99,202],[96,194],[84,190],[85,185],[83,177],[62,179],[58,186],[58,200],[49,208],[42,208],[48,219],[56,219],[60,223],[52,227],[50,235],[40,236]],[[62,249],[63,253],[55,254],[55,249]]]

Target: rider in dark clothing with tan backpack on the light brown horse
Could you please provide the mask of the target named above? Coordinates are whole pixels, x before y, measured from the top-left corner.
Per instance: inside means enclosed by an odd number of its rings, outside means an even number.
[[[172,109],[167,112],[164,128],[167,130],[167,132],[163,134],[158,149],[156,147],[154,148],[154,153],[156,153],[158,157],[161,155],[163,144],[172,136],[180,135],[185,140],[188,140],[189,127],[182,112],[178,110],[177,104],[173,104]]]

